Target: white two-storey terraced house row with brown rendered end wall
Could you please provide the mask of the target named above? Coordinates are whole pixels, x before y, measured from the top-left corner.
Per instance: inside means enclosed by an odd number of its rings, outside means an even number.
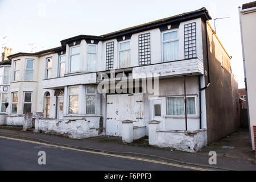
[[[31,113],[35,131],[200,150],[240,126],[231,58],[209,19],[202,8],[9,56],[7,125]]]

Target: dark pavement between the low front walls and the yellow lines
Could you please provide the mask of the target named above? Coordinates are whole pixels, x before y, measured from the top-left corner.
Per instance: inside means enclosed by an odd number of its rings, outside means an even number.
[[[211,146],[205,147],[203,150],[197,152],[196,154],[192,154],[189,152],[176,151],[173,149],[150,147],[147,144],[146,138],[131,144],[122,144],[121,137],[102,136],[78,140],[44,133],[23,132],[17,128],[16,130],[13,130],[11,127],[0,127],[0,136],[27,139],[48,144],[56,144],[57,146],[104,152],[105,154],[134,156],[143,159],[152,159],[161,162],[177,163],[188,166],[192,165],[211,169],[255,171],[256,160],[255,157],[252,156],[253,151],[250,151],[248,147],[245,149],[246,147],[244,146],[234,146],[237,140],[237,136],[243,135],[241,133],[243,131],[239,130],[237,132],[239,134],[234,133],[230,135],[228,139],[224,138],[220,140],[219,143],[213,143]],[[243,140],[245,139],[246,136],[243,138]],[[229,140],[231,140],[231,142]],[[245,143],[243,140],[241,140],[239,143]],[[222,148],[223,146],[221,146],[221,144],[225,144],[225,147]],[[234,153],[239,154],[239,151],[242,148],[246,151],[243,151],[242,153],[240,152],[242,155],[230,155]],[[210,165],[208,162],[210,157],[208,156],[208,151],[211,150],[217,152],[217,164]]]

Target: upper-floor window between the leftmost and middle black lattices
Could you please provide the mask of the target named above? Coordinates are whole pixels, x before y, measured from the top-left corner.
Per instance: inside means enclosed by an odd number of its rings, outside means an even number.
[[[119,68],[130,67],[131,48],[130,41],[119,43]]]

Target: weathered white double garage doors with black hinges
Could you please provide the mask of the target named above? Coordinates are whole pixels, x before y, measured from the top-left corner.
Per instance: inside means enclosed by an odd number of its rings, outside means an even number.
[[[121,136],[124,120],[135,121],[134,126],[143,125],[143,93],[107,96],[106,134]]]

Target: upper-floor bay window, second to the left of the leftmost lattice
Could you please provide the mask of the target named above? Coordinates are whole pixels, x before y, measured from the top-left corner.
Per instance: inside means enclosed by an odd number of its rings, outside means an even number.
[[[70,51],[70,72],[79,71],[80,46],[71,47]]]

